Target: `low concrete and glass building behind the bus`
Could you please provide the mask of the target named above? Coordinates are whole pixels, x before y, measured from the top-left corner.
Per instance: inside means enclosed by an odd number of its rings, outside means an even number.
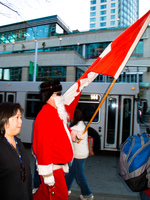
[[[124,30],[110,28],[73,33],[58,16],[2,26],[0,81],[33,81],[36,62],[36,81],[58,78],[74,82]],[[149,46],[148,26],[117,80],[121,83],[139,82],[143,99],[150,99]],[[111,82],[111,77],[99,75],[95,81]]]

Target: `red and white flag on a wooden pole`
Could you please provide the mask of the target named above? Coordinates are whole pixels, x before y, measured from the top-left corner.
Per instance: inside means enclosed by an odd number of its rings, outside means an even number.
[[[88,70],[64,93],[66,110],[72,119],[84,87],[99,74],[117,79],[150,23],[150,10],[111,42]]]

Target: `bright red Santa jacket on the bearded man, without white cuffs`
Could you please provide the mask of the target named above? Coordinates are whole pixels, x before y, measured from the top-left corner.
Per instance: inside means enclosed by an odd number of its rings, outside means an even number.
[[[66,164],[73,158],[72,144],[57,109],[50,104],[42,107],[34,123],[33,151],[38,165]],[[51,173],[49,171],[49,173]],[[40,174],[42,175],[42,174]]]

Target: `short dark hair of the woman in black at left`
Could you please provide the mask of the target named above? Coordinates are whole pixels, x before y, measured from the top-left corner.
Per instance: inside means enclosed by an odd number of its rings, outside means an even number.
[[[0,133],[5,135],[5,123],[8,122],[10,117],[13,117],[17,114],[17,111],[20,110],[23,113],[23,108],[19,103],[4,102],[0,104]]]

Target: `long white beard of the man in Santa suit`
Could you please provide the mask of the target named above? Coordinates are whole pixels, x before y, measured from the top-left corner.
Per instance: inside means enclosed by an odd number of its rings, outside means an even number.
[[[55,97],[54,101],[57,106],[57,111],[58,111],[58,115],[59,115],[60,119],[62,119],[64,123],[67,123],[68,114],[67,114],[65,106],[64,106],[63,96]]]

